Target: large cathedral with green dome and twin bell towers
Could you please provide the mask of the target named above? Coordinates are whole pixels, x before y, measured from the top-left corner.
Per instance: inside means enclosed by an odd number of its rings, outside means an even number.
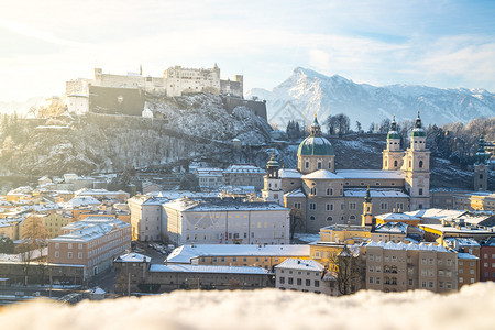
[[[297,151],[297,169],[279,168],[272,157],[262,196],[300,210],[305,226],[300,230],[306,232],[334,223],[361,224],[363,207],[373,216],[429,208],[430,152],[419,112],[409,140],[404,151],[394,118],[382,169],[336,169],[333,146],[315,116],[310,134]]]

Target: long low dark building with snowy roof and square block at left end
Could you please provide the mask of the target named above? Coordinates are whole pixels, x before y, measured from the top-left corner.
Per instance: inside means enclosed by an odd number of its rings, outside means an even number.
[[[273,287],[262,267],[151,264],[151,257],[130,253],[114,261],[116,293],[163,293],[175,289],[255,289]]]

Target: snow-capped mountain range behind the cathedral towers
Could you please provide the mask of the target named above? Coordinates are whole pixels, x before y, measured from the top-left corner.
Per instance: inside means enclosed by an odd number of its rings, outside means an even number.
[[[308,125],[318,112],[320,121],[329,114],[345,113],[351,128],[360,121],[367,130],[395,113],[398,121],[416,118],[417,110],[426,124],[437,125],[477,117],[495,116],[495,94],[484,89],[441,89],[427,86],[392,85],[375,87],[355,84],[344,77],[331,77],[297,67],[273,91],[254,88],[250,97],[267,101],[268,122],[285,129],[289,120]]]

